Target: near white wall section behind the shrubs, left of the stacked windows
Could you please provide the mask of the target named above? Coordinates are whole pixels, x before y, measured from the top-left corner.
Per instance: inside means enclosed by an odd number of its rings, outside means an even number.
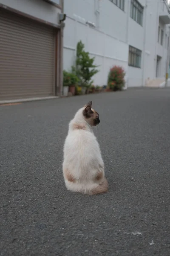
[[[99,6],[97,3],[95,0],[74,0],[73,4],[65,0],[64,69],[69,70],[75,63],[77,42],[82,40],[85,50],[99,65],[100,72],[94,76],[94,84],[102,86],[107,83],[113,65],[124,67],[128,73],[127,15],[109,0],[100,1]],[[97,9],[99,15],[95,14]],[[86,21],[95,23],[96,28],[86,25]]]

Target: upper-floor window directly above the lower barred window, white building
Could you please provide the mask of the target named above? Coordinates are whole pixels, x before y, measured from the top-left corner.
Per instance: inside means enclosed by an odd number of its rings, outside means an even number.
[[[131,0],[130,17],[142,26],[143,7],[136,0]]]

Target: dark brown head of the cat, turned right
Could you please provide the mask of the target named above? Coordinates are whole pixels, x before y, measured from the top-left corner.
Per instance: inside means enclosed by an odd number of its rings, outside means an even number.
[[[83,117],[86,120],[86,122],[88,122],[89,125],[91,126],[96,126],[99,124],[100,119],[99,119],[99,114],[93,109],[91,108],[92,106],[92,102],[88,102],[88,104],[86,104],[83,107]]]

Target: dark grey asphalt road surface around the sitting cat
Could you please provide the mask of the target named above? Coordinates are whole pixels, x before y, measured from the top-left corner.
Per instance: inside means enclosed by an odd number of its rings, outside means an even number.
[[[68,192],[62,148],[89,100],[109,192]],[[0,256],[169,256],[170,89],[0,106]]]

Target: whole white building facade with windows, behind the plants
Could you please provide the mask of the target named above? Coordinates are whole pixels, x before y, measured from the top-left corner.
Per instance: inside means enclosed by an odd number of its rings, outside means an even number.
[[[170,14],[165,0],[65,0],[65,70],[75,64],[79,40],[100,72],[95,85],[107,84],[113,65],[126,72],[126,87],[163,81],[167,66]]]

